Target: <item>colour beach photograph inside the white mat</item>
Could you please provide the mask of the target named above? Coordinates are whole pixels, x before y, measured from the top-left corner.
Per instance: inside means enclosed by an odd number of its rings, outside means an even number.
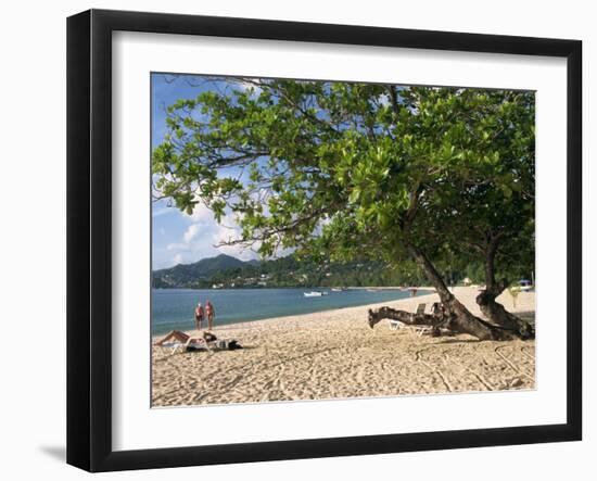
[[[151,74],[151,406],[535,389],[535,92]]]

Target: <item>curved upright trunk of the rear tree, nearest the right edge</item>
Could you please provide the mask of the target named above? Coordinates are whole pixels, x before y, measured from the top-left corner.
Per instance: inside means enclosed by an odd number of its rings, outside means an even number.
[[[477,296],[477,304],[481,312],[496,326],[511,330],[520,339],[535,339],[534,326],[506,311],[504,305],[496,302],[496,298],[508,287],[508,281],[495,280],[495,255],[499,244],[499,236],[491,238],[485,252],[485,290]]]

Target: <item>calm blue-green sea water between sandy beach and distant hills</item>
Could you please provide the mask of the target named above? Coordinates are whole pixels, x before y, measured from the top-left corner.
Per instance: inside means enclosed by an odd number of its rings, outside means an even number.
[[[353,307],[395,301],[410,295],[408,291],[367,291],[350,289],[328,292],[320,298],[305,298],[306,289],[154,289],[151,296],[152,336],[163,334],[173,329],[194,329],[194,307],[198,302],[205,305],[212,301],[216,311],[215,326],[267,319],[270,317],[309,314],[320,311]],[[418,291],[417,295],[429,291]]]

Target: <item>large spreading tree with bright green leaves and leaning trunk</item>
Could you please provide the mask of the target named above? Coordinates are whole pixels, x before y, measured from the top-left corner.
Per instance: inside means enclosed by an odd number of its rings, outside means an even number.
[[[488,249],[488,233],[516,243],[519,224],[532,230],[532,211],[519,211],[520,193],[534,186],[532,93],[218,85],[168,109],[168,135],[153,152],[156,197],[187,212],[203,202],[217,219],[236,215],[242,235],[232,242],[256,244],[264,256],[292,248],[316,261],[367,258],[394,269],[411,260],[437,290],[444,326],[480,339],[524,336],[471,315],[437,265],[473,258],[467,245]],[[500,252],[516,255],[512,245],[503,241]]]

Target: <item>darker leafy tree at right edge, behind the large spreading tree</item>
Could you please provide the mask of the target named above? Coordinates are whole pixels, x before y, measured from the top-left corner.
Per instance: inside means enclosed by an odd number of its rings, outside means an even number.
[[[492,152],[499,162],[482,162],[466,176],[444,179],[442,202],[420,207],[425,212],[418,216],[419,229],[434,233],[425,249],[443,264],[462,268],[481,258],[486,288],[477,301],[482,312],[497,325],[533,337],[532,325],[495,300],[513,277],[534,269],[534,96],[482,96],[494,99],[471,110],[469,129],[475,132],[478,155]]]

